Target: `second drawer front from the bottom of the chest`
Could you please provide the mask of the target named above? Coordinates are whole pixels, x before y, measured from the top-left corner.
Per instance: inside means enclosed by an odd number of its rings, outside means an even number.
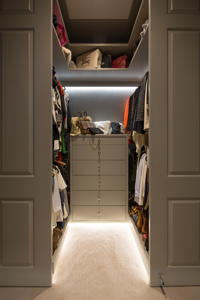
[[[73,205],[126,205],[126,191],[73,191],[72,197]]]

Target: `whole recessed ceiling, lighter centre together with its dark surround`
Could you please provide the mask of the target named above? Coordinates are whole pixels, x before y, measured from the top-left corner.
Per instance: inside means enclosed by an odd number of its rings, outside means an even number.
[[[128,43],[142,0],[58,0],[70,44]]]

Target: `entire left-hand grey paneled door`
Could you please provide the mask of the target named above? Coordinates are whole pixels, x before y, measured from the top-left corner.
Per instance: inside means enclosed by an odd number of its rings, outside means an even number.
[[[0,1],[0,284],[52,285],[51,1]]]

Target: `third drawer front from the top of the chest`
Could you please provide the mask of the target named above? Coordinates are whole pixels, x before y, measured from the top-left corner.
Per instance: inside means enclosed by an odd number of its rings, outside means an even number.
[[[74,160],[73,175],[126,175],[126,161]]]

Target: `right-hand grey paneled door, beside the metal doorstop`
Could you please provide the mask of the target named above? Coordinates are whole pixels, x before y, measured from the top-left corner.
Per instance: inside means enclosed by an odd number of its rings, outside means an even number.
[[[150,285],[200,285],[199,1],[150,1]]]

